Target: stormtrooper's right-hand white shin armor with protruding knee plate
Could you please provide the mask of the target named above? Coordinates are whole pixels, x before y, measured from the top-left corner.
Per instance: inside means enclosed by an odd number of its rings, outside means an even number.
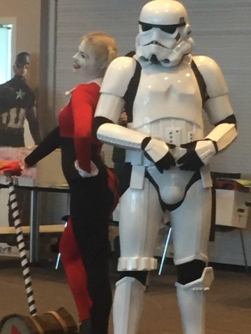
[[[213,281],[213,268],[206,267],[201,278],[188,284],[176,283],[183,334],[205,333],[205,292]]]

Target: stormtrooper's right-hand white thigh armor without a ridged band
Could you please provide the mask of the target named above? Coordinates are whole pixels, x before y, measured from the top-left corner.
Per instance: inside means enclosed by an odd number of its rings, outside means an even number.
[[[192,184],[181,206],[170,212],[170,219],[174,241],[174,264],[192,260],[208,262],[211,188],[203,188],[201,180]]]

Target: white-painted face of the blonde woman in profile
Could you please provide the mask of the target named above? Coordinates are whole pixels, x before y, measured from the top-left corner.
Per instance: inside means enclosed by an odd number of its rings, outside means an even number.
[[[100,75],[99,63],[93,45],[83,40],[79,45],[79,51],[73,56],[74,72],[79,73],[84,82],[96,79]]]

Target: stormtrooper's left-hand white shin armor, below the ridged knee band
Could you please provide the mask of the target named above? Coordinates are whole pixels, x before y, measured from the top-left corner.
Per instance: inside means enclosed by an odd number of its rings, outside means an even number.
[[[136,334],[142,315],[145,286],[136,278],[116,283],[113,303],[114,334]]]

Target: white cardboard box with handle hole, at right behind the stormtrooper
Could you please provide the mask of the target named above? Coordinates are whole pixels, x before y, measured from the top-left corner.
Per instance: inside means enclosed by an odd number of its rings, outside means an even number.
[[[249,199],[249,191],[216,189],[215,225],[245,228],[248,220],[245,201]]]

